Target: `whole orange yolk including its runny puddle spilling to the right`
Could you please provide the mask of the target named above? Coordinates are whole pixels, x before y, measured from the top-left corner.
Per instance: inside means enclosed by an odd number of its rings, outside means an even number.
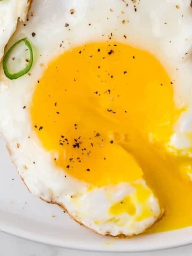
[[[148,232],[192,225],[192,184],[180,176],[186,160],[165,148],[179,114],[172,81],[160,62],[116,42],[83,45],[53,60],[31,106],[40,141],[68,175],[90,186],[144,175],[165,209]]]

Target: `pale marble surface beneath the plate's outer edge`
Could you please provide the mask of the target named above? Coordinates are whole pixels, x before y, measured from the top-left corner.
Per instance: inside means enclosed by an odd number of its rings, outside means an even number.
[[[45,244],[38,244],[0,232],[0,255],[5,256],[191,256],[192,245],[157,252],[100,253],[73,251]]]

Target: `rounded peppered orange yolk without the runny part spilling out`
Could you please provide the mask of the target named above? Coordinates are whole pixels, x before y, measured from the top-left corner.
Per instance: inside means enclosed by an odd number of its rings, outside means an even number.
[[[147,52],[84,45],[49,65],[32,119],[44,147],[58,154],[55,164],[70,175],[98,186],[134,181],[143,173],[129,148],[149,132],[163,141],[171,134],[171,81]]]

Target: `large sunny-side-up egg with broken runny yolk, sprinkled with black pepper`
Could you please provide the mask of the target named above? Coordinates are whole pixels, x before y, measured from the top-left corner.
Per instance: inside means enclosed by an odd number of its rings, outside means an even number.
[[[32,193],[102,235],[164,209],[153,232],[192,224],[191,25],[190,1],[34,1],[8,45],[27,37],[33,66],[0,71],[0,130]]]

